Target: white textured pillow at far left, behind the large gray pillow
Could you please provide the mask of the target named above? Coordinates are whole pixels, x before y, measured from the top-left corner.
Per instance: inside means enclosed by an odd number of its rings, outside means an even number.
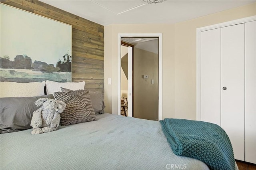
[[[0,97],[34,97],[44,95],[45,81],[31,83],[0,82]]]

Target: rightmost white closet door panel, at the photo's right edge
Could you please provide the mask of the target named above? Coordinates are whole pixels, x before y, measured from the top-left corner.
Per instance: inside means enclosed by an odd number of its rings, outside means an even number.
[[[245,161],[256,164],[256,21],[245,23]]]

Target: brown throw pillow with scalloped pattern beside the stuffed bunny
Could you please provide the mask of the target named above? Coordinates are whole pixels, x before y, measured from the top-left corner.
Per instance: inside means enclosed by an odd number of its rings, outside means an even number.
[[[61,126],[96,121],[88,90],[54,92],[54,97],[67,105],[60,113]]]

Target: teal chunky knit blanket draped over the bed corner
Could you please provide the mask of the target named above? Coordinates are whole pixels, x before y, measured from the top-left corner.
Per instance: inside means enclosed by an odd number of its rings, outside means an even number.
[[[186,119],[160,123],[174,154],[201,160],[212,170],[235,170],[231,142],[218,125]]]

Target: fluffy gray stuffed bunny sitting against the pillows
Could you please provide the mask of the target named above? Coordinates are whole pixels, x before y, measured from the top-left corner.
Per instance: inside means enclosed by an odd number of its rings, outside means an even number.
[[[63,101],[40,98],[34,102],[39,109],[34,111],[30,125],[33,127],[31,134],[52,132],[60,125],[60,113],[66,107]]]

